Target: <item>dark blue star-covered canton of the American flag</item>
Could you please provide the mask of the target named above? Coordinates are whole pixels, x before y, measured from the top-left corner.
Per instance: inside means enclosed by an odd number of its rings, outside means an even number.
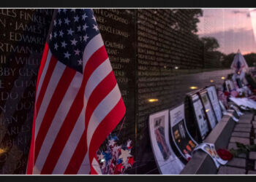
[[[50,33],[50,52],[64,65],[83,73],[83,51],[99,33],[92,9],[58,9]]]

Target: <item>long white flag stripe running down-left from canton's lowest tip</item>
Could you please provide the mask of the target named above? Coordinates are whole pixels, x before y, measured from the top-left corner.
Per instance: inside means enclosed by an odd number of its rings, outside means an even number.
[[[42,147],[39,151],[37,161],[35,165],[37,165],[38,170],[42,170],[43,165],[45,164],[45,160],[48,157],[48,153],[50,152],[51,147],[53,146],[53,142],[56,139],[56,136],[61,129],[61,126],[64,122],[64,119],[69,112],[69,108],[72,106],[73,101],[75,100],[76,95],[78,94],[78,87],[73,87],[75,84],[79,85],[82,83],[83,75],[80,73],[76,73],[74,79],[70,83],[70,86],[64,95],[64,98],[61,101],[61,104],[56,111],[56,114],[53,118],[53,122],[50,124],[49,130],[45,136],[45,140],[42,143]]]

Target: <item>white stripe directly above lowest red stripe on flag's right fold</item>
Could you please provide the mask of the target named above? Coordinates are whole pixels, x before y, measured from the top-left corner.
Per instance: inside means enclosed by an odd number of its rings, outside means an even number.
[[[109,94],[99,103],[97,108],[95,108],[93,114],[91,114],[91,119],[89,121],[87,129],[87,146],[90,146],[92,135],[97,129],[98,125],[102,120],[109,114],[109,112],[116,106],[121,98],[121,93],[118,89],[118,85],[109,92]],[[90,147],[89,147],[90,148]]]

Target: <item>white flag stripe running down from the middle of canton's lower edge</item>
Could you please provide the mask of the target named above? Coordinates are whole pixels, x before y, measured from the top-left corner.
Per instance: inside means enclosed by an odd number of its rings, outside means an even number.
[[[50,77],[50,82],[48,84],[47,90],[45,92],[44,98],[42,99],[42,104],[41,107],[39,108],[39,112],[37,114],[37,119],[36,119],[36,127],[35,127],[35,138],[37,138],[37,133],[39,131],[39,128],[41,126],[42,119],[45,116],[45,111],[48,108],[48,104],[50,103],[50,99],[53,96],[53,92],[55,91],[59,80],[61,79],[61,76],[67,66],[65,66],[63,63],[60,61],[57,62],[53,75]]]

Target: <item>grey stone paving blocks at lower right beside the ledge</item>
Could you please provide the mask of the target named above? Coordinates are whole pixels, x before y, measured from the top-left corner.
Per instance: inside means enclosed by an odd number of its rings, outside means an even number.
[[[256,144],[256,116],[246,113],[240,117],[236,124],[228,149],[238,149],[236,142],[244,143],[244,145]],[[256,151],[250,151],[249,154],[240,154],[234,157],[225,166],[219,167],[218,174],[248,174],[256,175]]]

